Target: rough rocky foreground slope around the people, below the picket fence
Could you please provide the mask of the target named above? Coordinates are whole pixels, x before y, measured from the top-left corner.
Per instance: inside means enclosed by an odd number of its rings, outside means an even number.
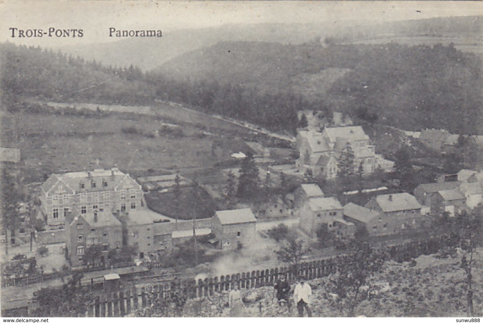
[[[483,313],[483,249],[475,256],[474,310],[476,316]],[[449,259],[434,256],[420,256],[416,266],[410,263],[387,262],[384,270],[372,283],[378,291],[370,299],[364,299],[355,309],[355,315],[368,317],[465,317],[467,299],[465,272],[460,268],[461,255]],[[414,264],[412,264],[414,265]],[[313,289],[312,310],[315,317],[338,317],[340,312],[331,295],[329,280],[324,277],[310,281]],[[288,313],[280,308],[273,298],[270,286],[242,290],[245,299],[246,316],[249,317],[292,317],[297,310]],[[367,293],[366,293],[367,294]],[[189,317],[227,317],[228,293],[203,299],[188,300],[183,311]]]

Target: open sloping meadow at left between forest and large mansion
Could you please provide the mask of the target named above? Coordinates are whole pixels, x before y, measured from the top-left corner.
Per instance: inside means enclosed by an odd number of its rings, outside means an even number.
[[[212,167],[230,160],[233,152],[249,149],[241,138],[252,135],[250,130],[189,114],[181,109],[162,116],[93,111],[5,113],[1,145],[20,148],[27,182],[43,181],[61,170],[114,165],[140,174]]]

